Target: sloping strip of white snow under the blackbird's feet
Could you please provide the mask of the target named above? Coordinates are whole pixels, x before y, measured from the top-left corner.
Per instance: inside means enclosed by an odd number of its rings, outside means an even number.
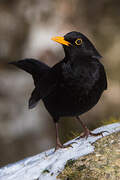
[[[114,123],[95,129],[93,132],[105,132],[104,136],[120,131],[120,123]],[[14,164],[9,164],[0,169],[0,180],[56,180],[56,176],[63,170],[67,160],[77,159],[94,151],[93,142],[99,137],[88,137],[86,140],[73,139],[67,142],[76,142],[67,149],[54,149],[42,152],[36,156],[26,158]]]

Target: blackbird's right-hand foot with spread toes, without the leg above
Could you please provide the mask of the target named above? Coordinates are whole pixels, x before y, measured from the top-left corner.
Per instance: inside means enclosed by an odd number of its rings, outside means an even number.
[[[91,135],[91,136],[102,136],[103,137],[104,132],[109,133],[108,131],[101,131],[99,133],[92,133],[89,129],[86,129],[84,134],[81,135],[80,137],[78,137],[77,139],[80,139],[80,138],[86,138],[87,139],[89,135]]]

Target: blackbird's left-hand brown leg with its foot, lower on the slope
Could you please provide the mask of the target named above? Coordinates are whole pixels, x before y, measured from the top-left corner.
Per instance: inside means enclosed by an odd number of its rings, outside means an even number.
[[[68,145],[63,145],[61,144],[60,142],[60,138],[59,138],[59,125],[58,125],[58,122],[55,123],[55,129],[56,129],[56,147],[55,147],[55,151],[59,148],[68,148],[68,147],[72,147],[71,144],[68,144]]]

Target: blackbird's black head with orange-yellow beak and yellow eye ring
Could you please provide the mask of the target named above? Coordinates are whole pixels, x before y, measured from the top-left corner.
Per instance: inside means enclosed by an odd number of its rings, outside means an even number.
[[[63,37],[53,37],[52,40],[63,45],[68,57],[92,57],[96,59],[102,57],[90,40],[80,32],[72,31]]]

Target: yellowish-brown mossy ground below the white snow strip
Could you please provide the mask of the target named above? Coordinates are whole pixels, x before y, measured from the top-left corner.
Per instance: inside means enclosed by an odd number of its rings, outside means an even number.
[[[58,176],[62,180],[119,180],[120,132],[94,143],[95,152],[78,160],[69,160]]]

